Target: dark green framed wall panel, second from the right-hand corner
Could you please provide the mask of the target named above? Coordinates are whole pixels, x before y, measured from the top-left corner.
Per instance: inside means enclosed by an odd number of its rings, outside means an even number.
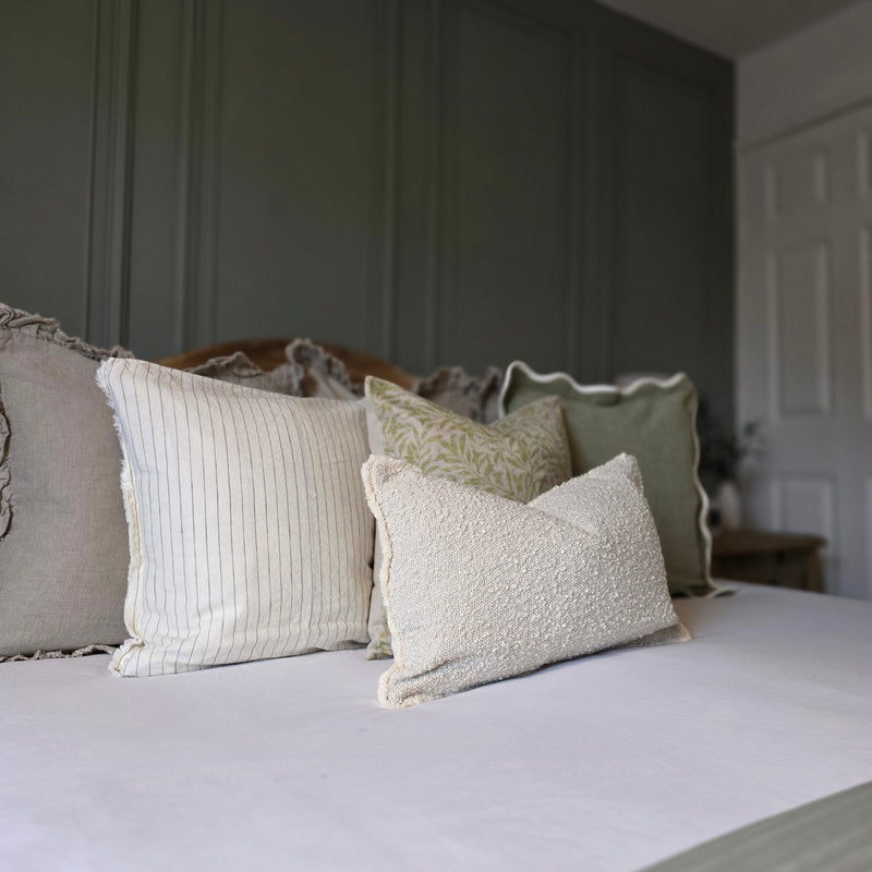
[[[566,368],[574,342],[567,324],[574,322],[579,294],[576,31],[571,23],[479,0],[438,2],[432,10],[431,363],[477,353],[469,313],[493,308],[502,289],[505,329],[523,322],[531,332],[548,334],[540,354]],[[538,180],[535,189],[531,178]],[[541,302],[535,312],[534,296]],[[524,339],[518,353],[536,348]],[[510,354],[501,349],[489,362],[505,365]]]

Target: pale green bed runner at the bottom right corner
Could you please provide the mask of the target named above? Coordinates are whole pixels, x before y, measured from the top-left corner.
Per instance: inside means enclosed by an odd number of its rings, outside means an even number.
[[[767,818],[644,872],[870,872],[872,782]]]

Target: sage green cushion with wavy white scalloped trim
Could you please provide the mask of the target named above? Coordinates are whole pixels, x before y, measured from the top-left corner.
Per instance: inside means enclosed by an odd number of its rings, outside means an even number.
[[[697,475],[697,391],[683,374],[625,387],[582,387],[564,373],[540,375],[516,361],[506,373],[500,408],[514,413],[545,397],[564,410],[572,474],[626,452],[639,461],[645,497],[661,537],[673,593],[706,592],[711,537],[707,501]]]

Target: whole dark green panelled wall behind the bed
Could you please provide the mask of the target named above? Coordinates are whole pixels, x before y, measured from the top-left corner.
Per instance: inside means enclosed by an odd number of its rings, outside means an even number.
[[[0,0],[2,299],[146,358],[687,371],[732,410],[732,69],[569,0]]]

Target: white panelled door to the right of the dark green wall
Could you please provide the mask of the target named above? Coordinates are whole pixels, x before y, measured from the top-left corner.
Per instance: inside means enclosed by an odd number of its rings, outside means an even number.
[[[749,522],[825,536],[826,591],[872,600],[872,109],[740,152],[738,180]]]

